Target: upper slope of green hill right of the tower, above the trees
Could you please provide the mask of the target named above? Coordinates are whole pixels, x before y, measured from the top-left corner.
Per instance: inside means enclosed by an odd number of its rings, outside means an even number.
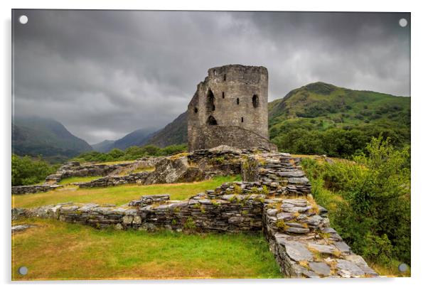
[[[319,117],[338,126],[369,123],[377,119],[408,123],[409,110],[409,97],[349,90],[314,82],[292,90],[280,100],[270,102],[269,124],[277,124],[285,119]]]

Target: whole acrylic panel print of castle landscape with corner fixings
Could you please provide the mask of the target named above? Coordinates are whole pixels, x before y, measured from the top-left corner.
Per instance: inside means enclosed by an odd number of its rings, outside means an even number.
[[[12,11],[12,280],[410,276],[410,13]]]

